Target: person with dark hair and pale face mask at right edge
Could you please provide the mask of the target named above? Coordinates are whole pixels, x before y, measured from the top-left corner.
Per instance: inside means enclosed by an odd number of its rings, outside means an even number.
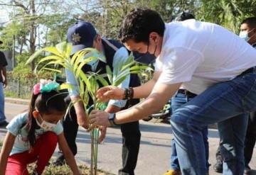
[[[256,49],[256,17],[246,18],[240,25],[240,38],[252,45]],[[256,174],[255,170],[251,170],[249,163],[252,159],[253,149],[256,141],[256,113],[250,113],[245,136],[245,174]],[[220,147],[216,152],[216,164],[213,169],[218,173],[223,172],[223,157],[220,152]]]

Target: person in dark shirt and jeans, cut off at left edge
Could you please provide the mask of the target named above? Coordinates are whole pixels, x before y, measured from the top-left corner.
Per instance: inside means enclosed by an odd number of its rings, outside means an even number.
[[[0,45],[1,44],[3,44],[3,42],[0,40]],[[0,51],[0,127],[8,125],[4,115],[4,88],[7,86],[6,66],[6,57],[4,56],[4,52]]]

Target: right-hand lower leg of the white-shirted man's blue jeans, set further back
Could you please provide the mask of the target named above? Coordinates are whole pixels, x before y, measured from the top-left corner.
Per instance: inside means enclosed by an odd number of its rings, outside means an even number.
[[[220,153],[223,157],[225,174],[243,174],[244,172],[244,145],[249,115],[250,113],[242,113],[218,123]]]

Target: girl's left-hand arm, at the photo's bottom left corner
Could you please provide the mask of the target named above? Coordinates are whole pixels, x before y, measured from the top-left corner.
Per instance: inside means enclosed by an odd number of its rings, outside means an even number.
[[[14,146],[16,136],[12,135],[11,132],[6,133],[4,138],[4,144],[1,148],[0,153],[0,175],[4,175],[6,171],[6,164],[12,147]]]

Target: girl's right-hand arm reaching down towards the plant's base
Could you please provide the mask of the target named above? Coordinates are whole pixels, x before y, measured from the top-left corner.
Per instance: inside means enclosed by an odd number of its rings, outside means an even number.
[[[74,175],[80,175],[80,172],[78,170],[78,165],[75,162],[75,157],[73,153],[71,152],[70,148],[68,147],[68,143],[65,140],[64,133],[61,132],[60,135],[58,135],[58,144],[60,146],[60,149],[63,152],[63,155],[65,157],[65,161],[70,166],[70,169],[73,171]]]

